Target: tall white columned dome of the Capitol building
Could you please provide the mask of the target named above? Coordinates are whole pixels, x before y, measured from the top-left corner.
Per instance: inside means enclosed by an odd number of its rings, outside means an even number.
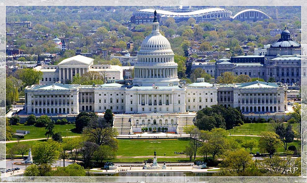
[[[174,62],[174,52],[171,50],[170,42],[159,32],[156,14],[155,12],[152,32],[143,40],[137,54],[133,85],[168,86],[179,84],[178,64]]]

